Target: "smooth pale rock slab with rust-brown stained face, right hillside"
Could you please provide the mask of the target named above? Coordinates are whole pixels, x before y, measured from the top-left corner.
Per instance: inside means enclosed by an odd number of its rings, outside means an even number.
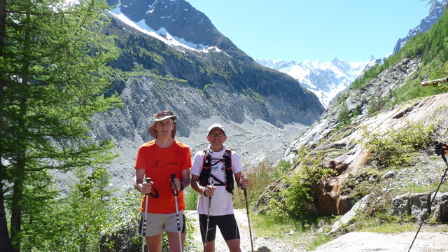
[[[412,104],[399,104],[386,111],[386,113],[381,113],[359,122],[359,126],[353,132],[335,142],[332,146],[333,148],[336,146],[341,149],[348,148],[349,151],[328,162],[328,167],[337,171],[339,175],[323,179],[321,185],[318,185],[316,195],[319,213],[325,215],[340,215],[345,214],[346,211],[351,209],[351,202],[346,197],[341,196],[340,192],[348,176],[356,172],[359,167],[362,167],[365,160],[370,156],[369,150],[363,150],[361,146],[356,144],[362,138],[361,128],[365,127],[372,133],[385,133],[389,129],[406,127],[411,122],[422,124],[434,123],[433,118],[438,118],[436,123],[438,130],[436,134],[443,136],[447,133],[447,126],[444,122],[448,120],[448,115],[446,113],[440,113],[440,110],[446,106],[448,106],[448,94],[427,97]],[[329,147],[325,146],[323,148]],[[417,196],[414,195],[414,197]],[[425,200],[411,198],[412,200],[414,202],[421,202],[420,206],[416,206],[417,209],[428,208],[427,196],[425,196]]]

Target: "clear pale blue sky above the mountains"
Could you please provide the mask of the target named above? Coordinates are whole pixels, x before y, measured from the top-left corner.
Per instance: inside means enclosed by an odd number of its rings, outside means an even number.
[[[253,58],[386,57],[428,15],[420,0],[186,0]]]

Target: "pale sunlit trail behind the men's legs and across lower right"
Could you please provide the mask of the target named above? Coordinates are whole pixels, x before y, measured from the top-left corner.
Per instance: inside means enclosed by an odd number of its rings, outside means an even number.
[[[199,221],[197,221],[196,211],[186,211],[186,216],[193,219],[196,232],[194,234],[197,244],[202,244],[199,232]],[[251,251],[251,239],[249,236],[246,209],[236,209],[239,232],[241,235],[241,251]],[[253,223],[251,223],[253,224]],[[448,228],[448,225],[447,225]],[[398,234],[381,234],[375,232],[350,232],[334,239],[326,244],[318,246],[311,252],[407,252],[415,232],[401,232]],[[280,239],[270,239],[258,237],[252,230],[253,249],[258,252],[304,252],[303,247],[291,244]],[[226,252],[228,247],[225,244],[221,233],[216,234],[216,252]],[[441,252],[448,251],[448,232],[420,232],[412,252]],[[195,251],[196,252],[196,251]]]

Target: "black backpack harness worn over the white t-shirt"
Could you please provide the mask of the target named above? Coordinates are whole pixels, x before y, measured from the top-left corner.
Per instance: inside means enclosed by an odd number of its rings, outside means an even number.
[[[227,190],[229,193],[233,194],[233,170],[232,170],[232,150],[230,148],[225,149],[224,153],[224,167],[225,167],[225,182],[216,179],[215,176],[210,174],[211,172],[211,156],[210,153],[207,151],[207,149],[204,149],[204,162],[202,162],[202,171],[200,174],[199,184],[201,186],[208,186],[209,178],[212,177],[214,181],[216,182],[214,186],[225,186],[225,190]],[[218,162],[221,162],[222,160],[218,160]]]

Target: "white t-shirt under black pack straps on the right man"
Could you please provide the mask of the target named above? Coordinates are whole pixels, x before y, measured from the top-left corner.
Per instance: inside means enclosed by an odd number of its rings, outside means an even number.
[[[209,146],[210,147],[210,146]],[[209,148],[208,147],[208,148]],[[216,179],[225,182],[225,165],[224,165],[224,153],[226,150],[226,146],[223,146],[222,151],[210,151],[211,155],[211,172],[213,176],[216,176]],[[239,160],[239,155],[232,151],[232,155],[230,155],[232,160],[232,172],[236,174],[238,172],[242,172],[243,167],[241,165],[241,161]],[[221,160],[221,162],[219,161]],[[218,161],[218,162],[217,162]],[[200,176],[202,171],[202,165],[204,162],[204,152],[198,151],[195,154],[195,158],[193,159],[193,168],[191,169],[191,174]],[[212,180],[213,178],[210,177]],[[219,183],[216,181],[216,183]],[[235,176],[234,176],[234,183]],[[225,186],[215,186],[215,194],[211,197],[211,208],[210,215],[211,216],[223,216],[226,214],[233,214],[233,204],[232,204],[232,194],[230,194],[227,190],[225,190]],[[235,189],[237,187],[235,186]],[[197,213],[198,214],[207,214],[209,212],[209,197],[205,197],[202,193],[197,200]]]

